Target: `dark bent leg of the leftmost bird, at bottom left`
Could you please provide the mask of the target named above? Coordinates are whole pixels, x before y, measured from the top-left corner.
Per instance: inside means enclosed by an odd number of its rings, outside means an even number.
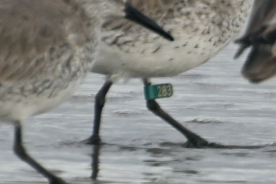
[[[52,172],[48,171],[44,167],[42,167],[38,162],[36,162],[29,154],[26,152],[23,144],[22,144],[22,130],[21,125],[18,124],[15,128],[15,143],[14,143],[14,151],[19,158],[23,161],[27,162],[34,169],[44,175],[50,184],[67,184],[61,178],[54,175]]]

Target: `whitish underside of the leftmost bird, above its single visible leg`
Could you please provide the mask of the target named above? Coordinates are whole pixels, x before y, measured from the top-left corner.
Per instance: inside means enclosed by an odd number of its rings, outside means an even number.
[[[8,122],[24,122],[28,117],[50,110],[68,99],[82,79],[71,81],[68,86],[50,97],[54,89],[45,89],[40,95],[22,93],[20,88],[13,88],[0,100],[0,118]],[[3,88],[2,88],[3,90]]]

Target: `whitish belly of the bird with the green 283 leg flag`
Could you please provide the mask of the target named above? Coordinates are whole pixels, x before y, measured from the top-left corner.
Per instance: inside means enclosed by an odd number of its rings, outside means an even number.
[[[102,42],[92,71],[123,78],[174,76],[206,62],[230,41],[213,46],[203,42],[204,39],[185,36],[174,42],[159,40],[144,43],[131,52]]]

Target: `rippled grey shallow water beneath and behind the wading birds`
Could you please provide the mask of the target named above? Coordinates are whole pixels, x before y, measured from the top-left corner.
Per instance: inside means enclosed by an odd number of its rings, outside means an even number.
[[[158,100],[180,123],[209,141],[267,145],[259,149],[188,149],[185,138],[147,111],[142,82],[114,85],[101,128],[97,180],[89,177],[93,147],[79,141],[90,135],[94,97],[104,76],[91,74],[75,95],[51,112],[26,123],[30,154],[69,183],[276,183],[276,88],[271,79],[248,83],[233,60],[230,45],[206,64],[176,77],[174,95]],[[47,183],[12,151],[14,130],[0,125],[0,184]]]

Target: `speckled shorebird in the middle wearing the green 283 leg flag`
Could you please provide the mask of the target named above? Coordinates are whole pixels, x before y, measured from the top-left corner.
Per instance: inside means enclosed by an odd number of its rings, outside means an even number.
[[[100,54],[93,72],[107,75],[96,96],[94,128],[85,140],[98,144],[101,113],[112,84],[121,78],[142,78],[144,87],[151,77],[174,76],[213,57],[241,30],[250,13],[252,0],[133,0],[134,7],[153,18],[171,33],[173,42],[165,42],[148,31],[124,20],[102,22]],[[164,112],[155,100],[147,107],[183,134],[189,147],[221,147],[191,132]]]

